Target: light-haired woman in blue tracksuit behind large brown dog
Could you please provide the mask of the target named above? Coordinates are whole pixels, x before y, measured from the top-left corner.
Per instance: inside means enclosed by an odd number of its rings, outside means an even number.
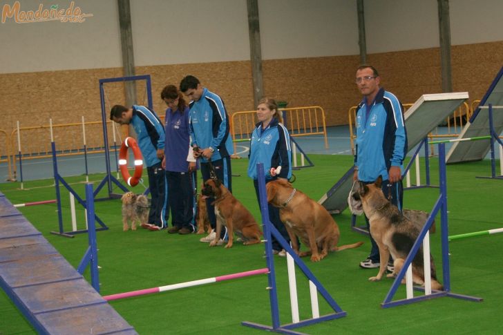
[[[292,177],[292,147],[290,146],[290,134],[287,128],[281,123],[283,117],[278,111],[278,105],[271,98],[260,99],[257,106],[258,124],[252,133],[252,141],[250,142],[248,176],[254,180],[257,200],[258,197],[258,180],[257,180],[257,163],[264,164],[264,171],[270,171],[271,168],[276,169],[281,166],[281,171],[278,175],[270,175],[266,173],[265,182],[270,182],[277,178],[289,179]],[[260,204],[259,204],[260,205]],[[283,222],[279,218],[279,209],[271,204],[269,208],[269,220],[278,229],[283,238],[290,242],[287,230]],[[280,256],[286,256],[281,245],[274,236],[272,237],[273,253],[279,253]]]

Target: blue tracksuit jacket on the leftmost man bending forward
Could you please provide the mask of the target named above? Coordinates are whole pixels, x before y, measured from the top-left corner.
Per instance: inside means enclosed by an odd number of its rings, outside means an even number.
[[[164,150],[164,126],[154,111],[145,106],[133,105],[131,124],[147,167],[160,163],[157,150]]]

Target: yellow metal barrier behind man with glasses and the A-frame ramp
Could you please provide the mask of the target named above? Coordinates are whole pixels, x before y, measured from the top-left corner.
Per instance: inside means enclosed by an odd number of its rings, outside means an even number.
[[[447,127],[447,133],[446,134],[439,134],[438,129],[435,130],[435,133],[430,133],[428,134],[428,138],[432,140],[435,137],[457,137],[459,133],[461,133],[462,128],[468,122],[470,119],[471,115],[473,114],[473,111],[475,111],[475,108],[477,108],[478,104],[480,103],[480,100],[473,100],[471,105],[468,105],[466,102],[464,102],[459,108],[457,108],[453,115],[448,117],[442,126]],[[403,104],[404,106],[404,113],[412,106],[412,104]],[[350,127],[350,143],[351,143],[351,153],[354,155],[354,139],[357,138],[357,135],[354,133],[354,124],[356,124],[356,119],[357,119],[357,106],[352,106],[350,110],[348,111],[348,118],[349,118],[349,127]],[[430,154],[433,155],[433,146],[431,148]]]

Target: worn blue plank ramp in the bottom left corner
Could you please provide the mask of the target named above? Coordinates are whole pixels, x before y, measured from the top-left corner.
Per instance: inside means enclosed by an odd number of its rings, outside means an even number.
[[[0,287],[39,334],[137,334],[1,192]]]

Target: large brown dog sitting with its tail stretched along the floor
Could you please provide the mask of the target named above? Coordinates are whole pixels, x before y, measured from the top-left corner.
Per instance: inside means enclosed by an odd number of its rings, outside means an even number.
[[[267,201],[274,207],[279,207],[281,221],[292,241],[292,247],[298,256],[311,255],[313,262],[318,262],[328,255],[328,251],[338,251],[356,248],[363,242],[337,247],[339,242],[339,226],[318,202],[310,199],[290,182],[284,179],[274,180],[266,184]],[[297,238],[300,238],[310,251],[299,252]]]

